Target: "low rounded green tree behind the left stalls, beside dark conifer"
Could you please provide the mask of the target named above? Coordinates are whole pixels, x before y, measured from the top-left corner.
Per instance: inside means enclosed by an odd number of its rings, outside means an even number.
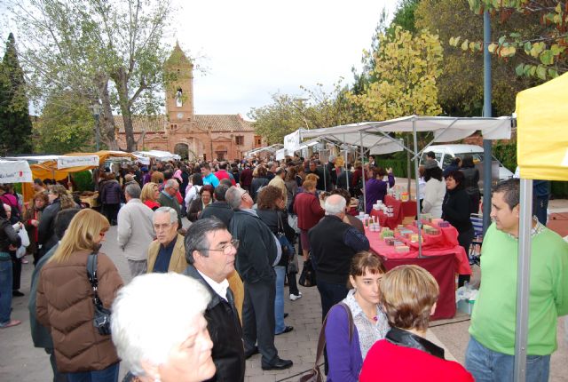
[[[66,154],[91,151],[94,120],[89,105],[76,99],[72,92],[51,94],[35,123],[36,151]]]

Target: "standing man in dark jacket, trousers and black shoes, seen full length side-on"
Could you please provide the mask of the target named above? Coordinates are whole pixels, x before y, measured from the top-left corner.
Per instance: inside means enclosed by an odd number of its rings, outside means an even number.
[[[278,262],[278,239],[252,209],[254,201],[248,191],[231,187],[225,199],[235,211],[229,230],[240,241],[237,271],[245,290],[242,307],[245,355],[248,358],[262,354],[263,370],[288,369],[292,361],[282,360],[274,346],[276,274],[272,267]]]

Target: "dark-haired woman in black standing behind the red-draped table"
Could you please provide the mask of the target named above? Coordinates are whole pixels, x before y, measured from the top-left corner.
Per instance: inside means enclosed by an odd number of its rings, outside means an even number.
[[[446,196],[442,203],[442,219],[448,221],[458,230],[458,243],[469,252],[469,245],[475,235],[471,224],[471,199],[463,188],[463,172],[452,171],[446,177]],[[458,286],[469,282],[469,275],[460,275]]]

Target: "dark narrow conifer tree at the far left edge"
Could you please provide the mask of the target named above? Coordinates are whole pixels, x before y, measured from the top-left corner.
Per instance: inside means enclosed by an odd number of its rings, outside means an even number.
[[[31,153],[31,134],[26,83],[11,33],[0,67],[0,153]]]

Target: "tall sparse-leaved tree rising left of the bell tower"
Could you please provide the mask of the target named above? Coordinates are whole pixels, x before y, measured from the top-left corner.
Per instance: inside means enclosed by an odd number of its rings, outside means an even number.
[[[118,110],[126,149],[135,150],[132,116],[162,107],[162,40],[172,11],[170,0],[17,0],[13,14],[28,31],[25,63],[36,99],[51,92],[74,92],[85,104],[100,99],[103,140],[118,148]]]

